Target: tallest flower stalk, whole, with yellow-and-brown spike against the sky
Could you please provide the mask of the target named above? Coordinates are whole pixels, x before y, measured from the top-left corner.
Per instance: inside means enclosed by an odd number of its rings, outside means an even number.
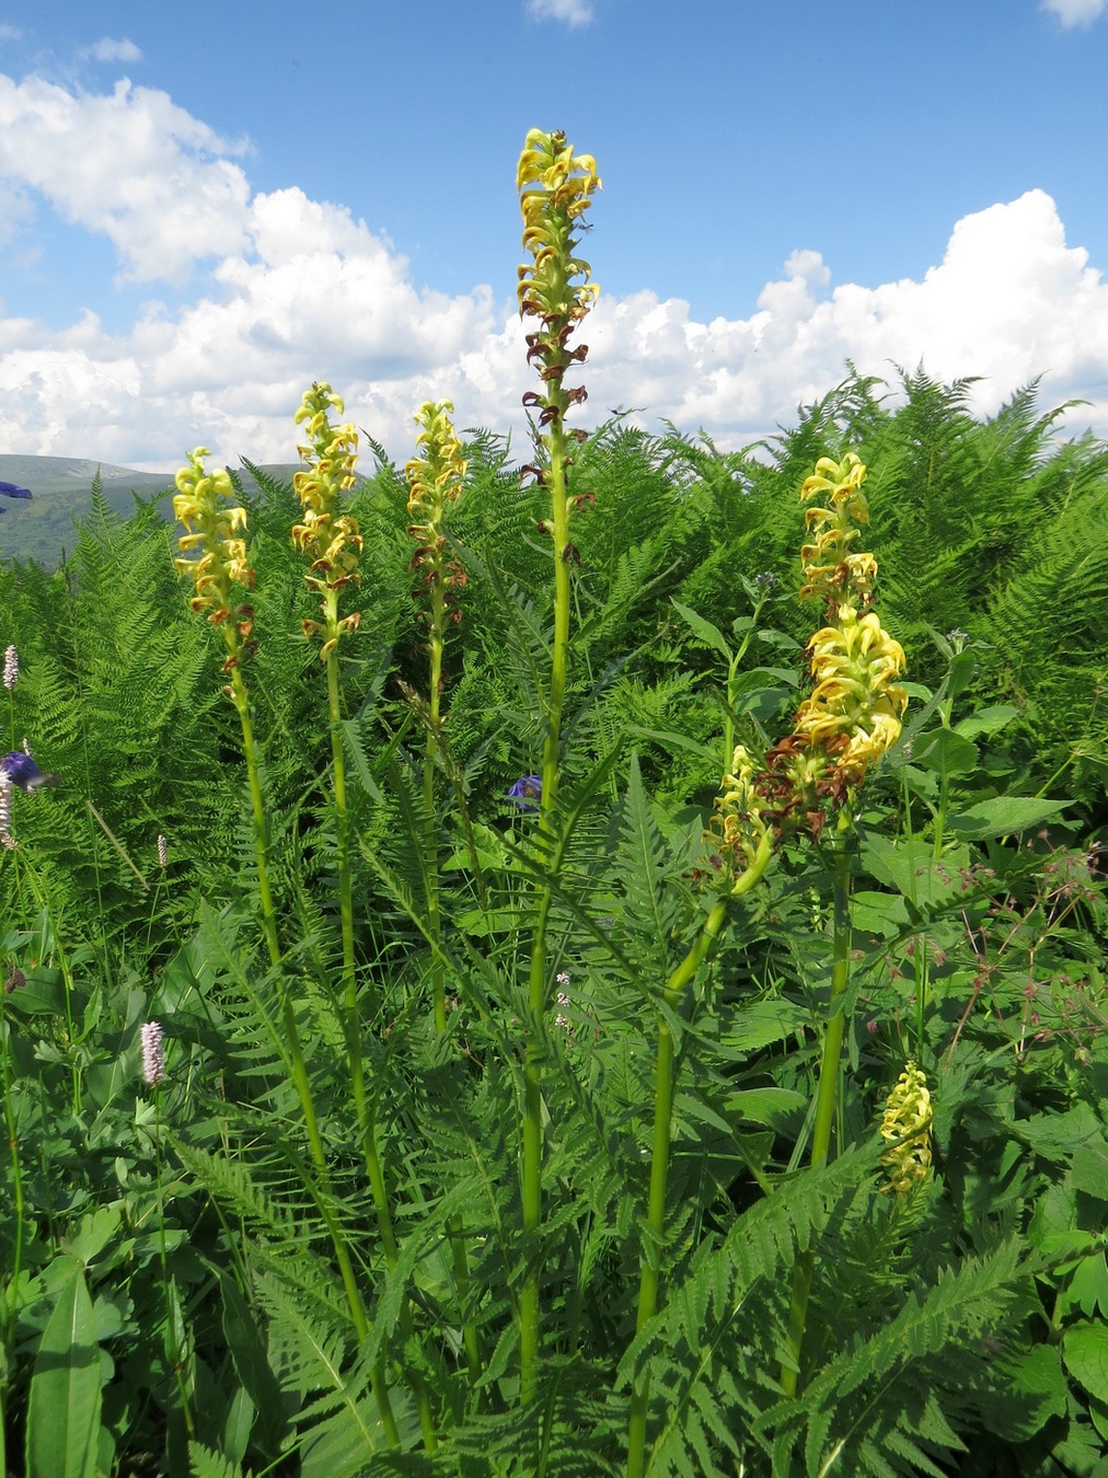
[[[557,842],[558,763],[561,717],[566,699],[569,656],[570,584],[569,565],[576,550],[569,538],[570,516],[579,507],[567,491],[566,412],[585,399],[584,387],[566,389],[566,371],[582,364],[582,344],[569,347],[578,324],[597,299],[589,282],[589,265],[575,256],[576,223],[600,186],[595,160],[575,155],[564,133],[532,129],[516,173],[524,232],[523,247],[533,257],[520,268],[520,315],[536,318],[539,328],[527,334],[527,359],[536,364],[542,390],[530,390],[523,403],[538,415],[538,466],[529,470],[550,494],[550,519],[542,528],[554,545],[554,637],[550,689],[544,704],[542,791],[539,795],[538,847],[544,876],[536,882],[527,975],[527,1020],[523,1060],[523,1202],[524,1276],[519,1299],[520,1401],[535,1397],[539,1363],[539,1299],[542,1287],[542,1057],[547,1009],[547,927],[553,903],[550,868]],[[544,430],[545,427],[545,430]]]

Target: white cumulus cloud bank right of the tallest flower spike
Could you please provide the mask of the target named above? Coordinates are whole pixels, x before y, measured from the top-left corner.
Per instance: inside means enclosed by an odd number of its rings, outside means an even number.
[[[680,299],[638,293],[601,300],[591,325],[589,392],[646,406],[681,426],[742,436],[790,420],[824,395],[849,358],[888,375],[923,362],[931,374],[977,374],[982,411],[1044,374],[1053,401],[1086,396],[1108,415],[1108,285],[1089,254],[1067,247],[1043,191],[963,217],[943,262],[922,281],[879,287],[827,281],[821,257],[796,251],[749,318],[700,324]]]

